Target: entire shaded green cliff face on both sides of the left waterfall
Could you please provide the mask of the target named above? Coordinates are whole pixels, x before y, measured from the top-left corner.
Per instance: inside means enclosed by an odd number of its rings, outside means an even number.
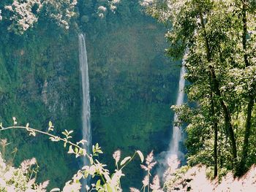
[[[89,18],[78,24],[86,32],[91,88],[91,124],[93,143],[99,142],[105,155],[102,161],[113,169],[112,153],[124,155],[140,149],[144,153],[165,150],[170,138],[171,111],[175,103],[178,67],[165,58],[165,29],[142,15],[138,6],[124,1],[116,15]],[[124,15],[127,13],[127,17]],[[91,23],[90,23],[91,22]],[[78,28],[64,32],[39,23],[23,37],[1,37],[0,46],[0,118],[4,125],[30,123],[47,130],[53,121],[56,134],[75,130],[81,138],[80,73],[78,64]],[[54,30],[53,30],[54,28]],[[1,138],[12,142],[7,150],[18,147],[14,159],[36,157],[40,180],[63,185],[75,169],[74,161],[62,144],[42,136],[29,137],[23,131],[9,131]],[[129,166],[124,189],[140,186],[138,162]]]

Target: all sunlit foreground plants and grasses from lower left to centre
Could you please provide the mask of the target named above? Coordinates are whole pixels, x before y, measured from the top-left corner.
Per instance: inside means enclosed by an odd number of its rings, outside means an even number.
[[[29,123],[26,123],[26,126],[18,126],[18,121],[15,117],[12,118],[13,126],[4,127],[2,123],[0,123],[0,131],[9,131],[10,129],[25,129],[29,136],[36,137],[37,134],[43,134],[48,136],[52,142],[63,142],[64,147],[68,147],[69,150],[67,153],[74,154],[75,158],[83,157],[88,159],[89,164],[83,166],[78,172],[72,177],[72,180],[69,180],[64,188],[63,192],[76,192],[80,191],[80,189],[85,188],[86,191],[108,191],[108,192],[117,192],[121,190],[121,177],[124,176],[123,169],[127,166],[134,158],[135,155],[138,155],[141,163],[144,161],[143,153],[140,150],[135,150],[135,153],[132,156],[127,156],[121,160],[121,151],[116,150],[113,153],[113,159],[115,160],[115,172],[113,174],[110,173],[108,169],[106,169],[105,164],[100,163],[96,158],[102,153],[101,147],[98,144],[92,145],[92,153],[89,154],[85,149],[83,149],[83,145],[85,145],[86,140],[80,140],[79,142],[71,142],[72,133],[74,131],[63,131],[61,136],[56,136],[52,134],[54,131],[53,123],[50,121],[48,123],[48,131],[39,131],[35,128],[31,128]],[[6,146],[10,143],[7,143],[7,139],[1,140],[2,153],[4,156]],[[16,151],[17,152],[17,151]],[[7,166],[4,163],[4,160],[0,156],[0,168],[1,168],[1,176],[0,178],[0,189],[1,191],[45,191],[49,181],[46,181],[42,184],[37,185],[35,180],[37,178],[37,169],[34,168],[34,164],[37,165],[37,161],[35,158],[31,160],[23,161],[20,165],[19,169],[15,169],[11,166]],[[151,177],[151,169],[154,165],[157,164],[154,161],[153,151],[146,158],[146,165],[141,165],[142,169],[147,172],[146,177],[143,180],[143,191],[146,190],[152,192],[160,192],[160,184],[159,177],[155,176],[152,184],[150,183]],[[91,185],[82,185],[84,180],[97,180],[96,183],[93,181]],[[131,191],[138,191],[136,188],[130,188]],[[59,188],[53,188],[50,192],[53,191],[61,191]]]

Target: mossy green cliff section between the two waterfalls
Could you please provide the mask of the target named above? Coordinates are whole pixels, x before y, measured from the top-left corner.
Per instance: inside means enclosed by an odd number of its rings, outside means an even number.
[[[159,28],[141,18],[87,41],[93,140],[102,145],[108,164],[117,149],[130,155],[138,149],[159,153],[168,146],[177,80]],[[138,185],[139,163],[125,174],[129,182],[124,186]]]

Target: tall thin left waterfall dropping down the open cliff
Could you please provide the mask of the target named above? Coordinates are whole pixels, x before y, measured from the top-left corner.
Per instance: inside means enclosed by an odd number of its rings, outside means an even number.
[[[86,40],[83,34],[79,34],[79,65],[80,76],[83,90],[83,106],[82,106],[82,122],[83,122],[83,139],[86,139],[86,151],[91,150],[91,109],[90,109],[90,93],[89,93],[89,73],[88,61],[86,53]],[[83,164],[87,164],[86,158]]]

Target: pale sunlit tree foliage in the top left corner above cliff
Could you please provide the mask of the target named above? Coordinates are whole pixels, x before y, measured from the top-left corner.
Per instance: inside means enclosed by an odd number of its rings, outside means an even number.
[[[37,23],[40,16],[51,18],[58,26],[69,29],[69,22],[75,15],[76,0],[14,0],[4,8],[8,15],[0,15],[0,20],[11,22],[8,29],[15,34],[23,34]],[[1,10],[0,10],[1,14]]]

